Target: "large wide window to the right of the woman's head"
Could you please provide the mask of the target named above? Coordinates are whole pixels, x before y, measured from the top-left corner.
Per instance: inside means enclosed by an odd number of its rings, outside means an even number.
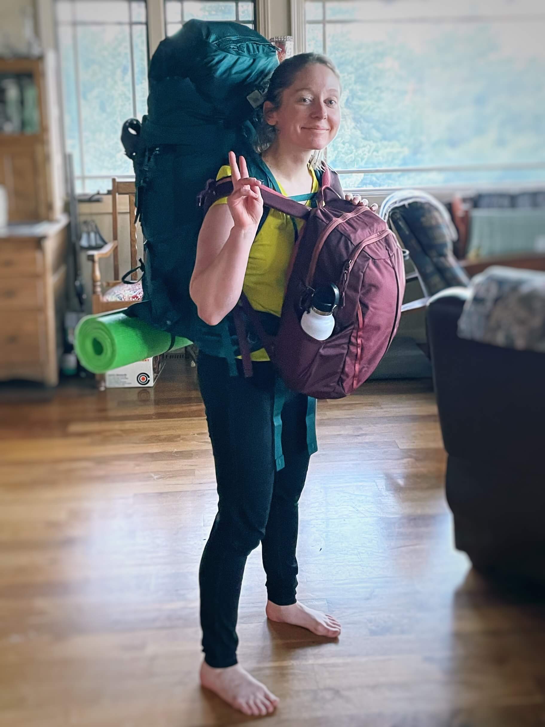
[[[544,4],[292,1],[342,76],[346,188],[545,179]]]

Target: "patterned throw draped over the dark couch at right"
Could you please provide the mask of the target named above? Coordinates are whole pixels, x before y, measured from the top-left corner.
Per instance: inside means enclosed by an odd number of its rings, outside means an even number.
[[[470,286],[461,338],[545,353],[545,273],[493,265]]]

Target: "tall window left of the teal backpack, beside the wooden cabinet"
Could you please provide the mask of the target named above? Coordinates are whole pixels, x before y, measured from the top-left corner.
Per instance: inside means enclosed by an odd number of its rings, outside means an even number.
[[[57,0],[65,149],[76,191],[105,192],[111,177],[132,179],[119,137],[148,97],[145,0]]]

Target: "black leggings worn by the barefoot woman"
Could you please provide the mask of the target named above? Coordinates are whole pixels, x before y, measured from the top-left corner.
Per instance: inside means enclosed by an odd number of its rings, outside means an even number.
[[[240,369],[240,362],[239,369]],[[254,363],[254,375],[231,377],[225,358],[198,358],[216,465],[218,512],[199,571],[203,652],[211,667],[237,663],[236,623],[246,558],[262,542],[267,597],[295,603],[297,502],[307,476],[307,397],[288,393],[282,409],[285,466],[275,471],[275,371]],[[240,371],[239,371],[240,373]]]

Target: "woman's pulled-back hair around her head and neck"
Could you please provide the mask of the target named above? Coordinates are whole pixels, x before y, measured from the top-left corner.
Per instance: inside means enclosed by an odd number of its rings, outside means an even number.
[[[273,108],[280,108],[282,105],[283,92],[291,86],[295,81],[295,76],[307,65],[313,65],[320,63],[329,68],[336,77],[341,80],[339,71],[337,71],[334,63],[327,56],[321,55],[320,53],[298,53],[291,58],[287,58],[283,63],[280,63],[276,68],[273,75],[270,77],[269,87],[267,89],[267,96],[265,102],[269,101],[273,104]],[[257,153],[262,154],[264,151],[273,144],[276,138],[277,131],[275,126],[267,124],[267,119],[262,110],[262,118],[257,126],[257,138],[254,142],[254,149]],[[325,151],[323,149],[315,150],[310,157],[309,164],[312,169],[319,169],[323,165],[323,159]]]

